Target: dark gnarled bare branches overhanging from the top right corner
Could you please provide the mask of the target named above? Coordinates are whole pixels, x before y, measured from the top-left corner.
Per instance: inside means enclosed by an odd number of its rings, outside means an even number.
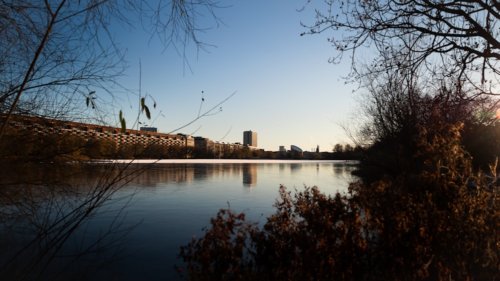
[[[409,64],[469,81],[488,94],[497,84],[500,59],[500,5],[496,1],[428,0],[327,0],[325,11],[316,10],[316,22],[304,24],[303,34],[334,30],[328,40],[338,54],[368,49],[382,53],[409,50]],[[408,36],[418,41],[408,41]],[[358,54],[356,54],[358,55]],[[383,57],[375,58],[373,69]],[[354,60],[353,60],[354,62]],[[384,64],[383,67],[387,67]],[[390,65],[399,67],[397,64]],[[351,78],[359,76],[353,64]]]

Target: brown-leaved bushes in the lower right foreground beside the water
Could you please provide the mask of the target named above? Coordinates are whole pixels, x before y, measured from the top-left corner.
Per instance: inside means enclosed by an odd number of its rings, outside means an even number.
[[[474,172],[462,124],[418,127],[415,172],[347,194],[280,188],[258,226],[221,210],[181,247],[188,280],[497,280],[496,166]]]

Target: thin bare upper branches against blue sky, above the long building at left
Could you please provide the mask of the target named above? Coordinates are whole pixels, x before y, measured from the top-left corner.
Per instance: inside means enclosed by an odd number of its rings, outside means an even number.
[[[112,93],[126,68],[123,49],[109,26],[140,25],[165,48],[185,58],[185,46],[206,44],[196,38],[200,14],[214,15],[217,3],[143,0],[10,1],[0,6],[0,111],[44,117],[62,113],[82,119],[85,99],[103,117],[120,97]],[[95,99],[99,90],[110,97]],[[104,102],[107,100],[107,102]],[[101,111],[99,111],[100,109]],[[0,137],[7,122],[3,121]]]

